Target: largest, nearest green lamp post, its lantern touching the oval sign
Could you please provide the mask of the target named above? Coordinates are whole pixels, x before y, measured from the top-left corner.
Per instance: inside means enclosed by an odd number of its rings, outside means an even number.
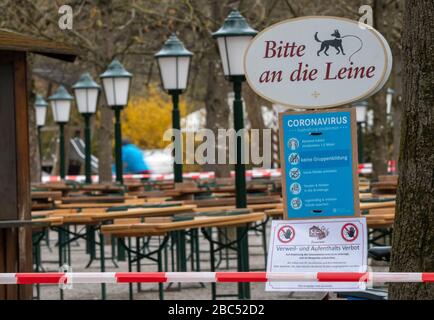
[[[232,10],[225,19],[223,26],[213,33],[213,37],[217,39],[224,75],[232,82],[234,88],[233,108],[234,129],[236,132],[244,128],[243,101],[241,98],[241,86],[245,81],[244,53],[256,34],[257,31],[247,24],[247,21],[237,10]],[[237,161],[235,164],[237,208],[247,207],[246,168],[241,158],[242,143],[241,138],[237,137]],[[238,248],[238,270],[249,271],[247,227],[237,228],[237,238],[241,239]],[[241,299],[250,299],[249,283],[239,283],[238,295]]]

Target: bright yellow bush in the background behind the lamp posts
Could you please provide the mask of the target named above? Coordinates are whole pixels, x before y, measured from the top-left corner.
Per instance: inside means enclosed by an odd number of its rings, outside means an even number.
[[[169,141],[163,134],[172,128],[171,97],[156,87],[150,87],[146,97],[132,97],[122,112],[123,136],[143,149],[161,149]],[[180,100],[181,117],[185,116],[186,104]]]

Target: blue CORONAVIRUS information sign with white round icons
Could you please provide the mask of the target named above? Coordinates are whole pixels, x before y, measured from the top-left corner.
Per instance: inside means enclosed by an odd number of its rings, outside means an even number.
[[[355,111],[288,112],[279,124],[286,218],[358,215]]]

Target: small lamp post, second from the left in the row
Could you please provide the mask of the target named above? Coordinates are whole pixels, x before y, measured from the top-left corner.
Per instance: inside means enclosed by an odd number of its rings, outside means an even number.
[[[64,86],[48,98],[51,103],[54,121],[59,125],[59,154],[60,154],[60,178],[65,179],[65,124],[69,121],[71,101],[74,98],[68,93]]]

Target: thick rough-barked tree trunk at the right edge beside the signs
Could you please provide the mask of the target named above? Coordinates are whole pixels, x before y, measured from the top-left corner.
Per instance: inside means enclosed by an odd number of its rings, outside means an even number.
[[[434,271],[434,2],[406,1],[403,114],[391,271]],[[391,299],[434,299],[434,284],[390,286]]]

